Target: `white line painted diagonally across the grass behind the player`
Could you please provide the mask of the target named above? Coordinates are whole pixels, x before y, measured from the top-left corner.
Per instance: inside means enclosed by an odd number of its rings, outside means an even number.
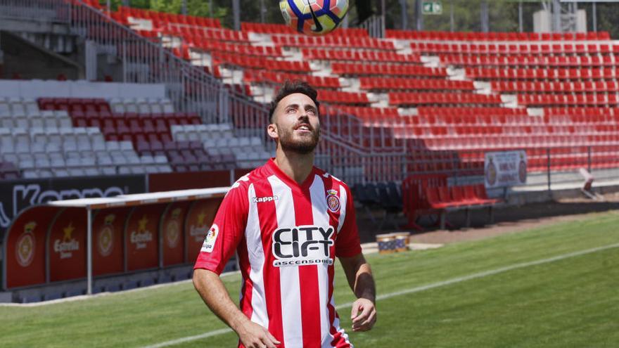
[[[592,249],[580,250],[580,251],[577,251],[577,252],[570,252],[568,254],[561,254],[561,255],[558,255],[558,256],[555,256],[555,257],[549,257],[547,259],[540,259],[540,260],[531,261],[531,262],[521,262],[520,264],[513,264],[511,266],[505,266],[505,267],[501,267],[499,269],[491,269],[490,271],[483,271],[483,272],[479,272],[479,273],[473,273],[473,274],[469,274],[468,276],[452,278],[452,279],[449,279],[447,281],[440,281],[438,283],[432,283],[432,284],[428,284],[428,285],[421,285],[421,286],[418,286],[416,288],[410,288],[410,289],[406,289],[406,290],[390,292],[390,293],[385,294],[385,295],[378,295],[376,297],[376,300],[388,299],[388,298],[391,298],[391,297],[411,294],[413,292],[421,292],[421,291],[430,290],[430,289],[434,289],[434,288],[440,288],[442,286],[452,285],[452,284],[455,284],[455,283],[461,283],[463,281],[471,281],[472,279],[484,278],[484,277],[487,277],[487,276],[494,276],[495,274],[504,273],[504,272],[507,272],[507,271],[513,271],[514,269],[522,269],[522,268],[525,268],[525,267],[537,266],[538,264],[547,264],[549,262],[560,261],[560,260],[563,260],[563,259],[569,259],[570,257],[577,257],[577,256],[580,256],[580,255],[585,255],[585,254],[592,254],[593,252],[599,252],[599,251],[602,251],[602,250],[613,249],[615,247],[619,247],[619,243],[611,244],[611,245],[606,245],[604,247],[594,247]],[[336,307],[336,309],[344,309],[344,308],[350,308],[350,307],[352,307],[352,302],[345,303],[345,304],[340,304],[339,306]],[[168,346],[172,346],[172,345],[175,345],[175,344],[181,344],[181,343],[184,343],[184,342],[201,340],[201,339],[206,338],[206,337],[223,335],[225,333],[231,333],[231,332],[232,332],[232,330],[230,328],[222,328],[222,329],[219,329],[219,330],[210,331],[208,333],[203,333],[201,335],[181,337],[181,338],[178,338],[177,340],[171,340],[171,341],[161,342],[161,343],[158,343],[158,344],[153,344],[151,346],[146,346],[144,348],[168,347]]]

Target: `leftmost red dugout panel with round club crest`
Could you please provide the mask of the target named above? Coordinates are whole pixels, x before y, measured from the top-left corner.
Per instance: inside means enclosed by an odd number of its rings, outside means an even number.
[[[56,207],[31,207],[6,231],[4,240],[5,288],[45,283],[45,240]]]

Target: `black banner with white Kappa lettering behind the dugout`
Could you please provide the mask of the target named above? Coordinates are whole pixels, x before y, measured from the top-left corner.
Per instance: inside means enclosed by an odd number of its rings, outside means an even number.
[[[0,228],[8,228],[19,212],[51,200],[113,197],[145,193],[146,176],[115,175],[87,178],[20,179],[0,183]]]

